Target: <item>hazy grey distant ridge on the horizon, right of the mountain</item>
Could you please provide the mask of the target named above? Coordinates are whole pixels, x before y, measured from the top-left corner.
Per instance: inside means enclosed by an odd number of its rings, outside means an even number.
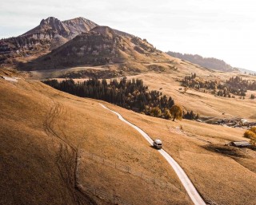
[[[225,61],[219,60],[214,57],[202,57],[199,55],[192,55],[192,54],[182,54],[182,53],[176,53],[176,52],[167,52],[168,55],[172,57],[178,57],[185,61],[190,61],[194,64],[201,65],[202,67],[205,67],[207,69],[215,69],[220,71],[234,71],[238,70],[233,68],[231,65],[227,64]]]

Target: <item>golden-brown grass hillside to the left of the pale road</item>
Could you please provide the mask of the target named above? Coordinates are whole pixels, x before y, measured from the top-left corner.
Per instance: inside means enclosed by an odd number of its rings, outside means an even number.
[[[0,78],[0,93],[1,204],[109,203],[74,188],[75,150],[82,149],[181,187],[158,152],[98,102],[22,79]],[[106,188],[110,197],[114,190],[127,202],[191,204],[182,187],[146,183],[85,156],[81,162],[78,183]]]

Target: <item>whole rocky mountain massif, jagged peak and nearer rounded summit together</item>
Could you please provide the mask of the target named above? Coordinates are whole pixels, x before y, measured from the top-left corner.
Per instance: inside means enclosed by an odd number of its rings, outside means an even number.
[[[26,70],[152,61],[170,62],[170,57],[146,39],[98,26],[86,18],[46,18],[25,34],[0,40],[0,65]]]

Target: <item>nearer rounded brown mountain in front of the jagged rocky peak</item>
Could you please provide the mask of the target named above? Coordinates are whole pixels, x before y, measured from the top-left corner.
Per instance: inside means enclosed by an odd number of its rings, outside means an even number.
[[[22,69],[61,69],[76,65],[120,64],[129,61],[170,62],[170,57],[139,37],[112,30],[108,26],[96,26],[46,56],[23,65]]]

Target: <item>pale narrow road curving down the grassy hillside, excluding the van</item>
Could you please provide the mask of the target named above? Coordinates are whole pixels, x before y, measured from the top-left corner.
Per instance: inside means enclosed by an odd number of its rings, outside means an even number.
[[[101,104],[101,105],[103,108],[106,108],[104,104]],[[146,134],[146,132],[142,131],[142,129],[138,128],[134,124],[131,124],[129,121],[125,120],[118,112],[115,112],[110,108],[106,108],[106,109],[110,110],[110,112],[114,112],[114,114],[118,116],[119,120],[122,120],[126,124],[129,124],[131,127],[136,129],[151,145],[153,145],[153,140],[150,138],[150,136]],[[170,166],[174,168],[174,171],[178,175],[178,178],[181,180],[192,202],[195,205],[206,205],[206,203],[203,201],[202,197],[199,195],[198,191],[194,187],[193,183],[191,183],[190,178],[186,175],[185,171],[178,165],[178,163],[163,149],[158,150],[158,152],[160,152],[160,154],[167,160]]]

